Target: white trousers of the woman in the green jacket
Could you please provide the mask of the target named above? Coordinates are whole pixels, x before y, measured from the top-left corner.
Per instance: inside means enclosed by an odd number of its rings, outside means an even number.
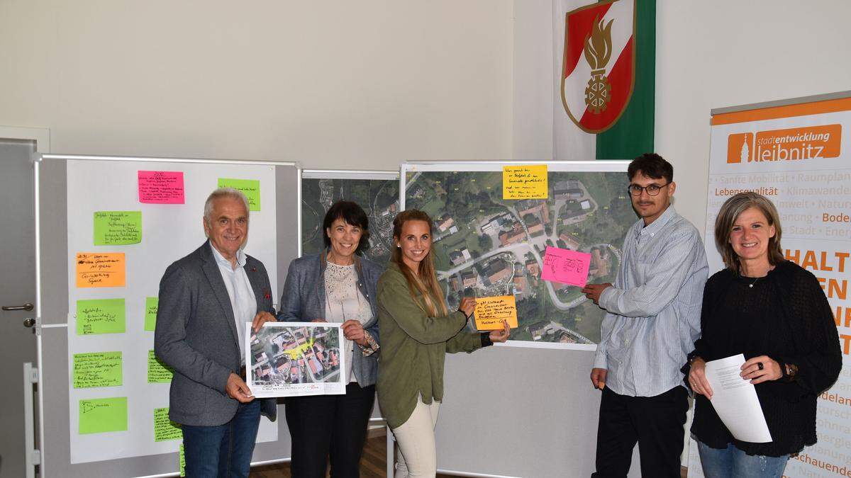
[[[437,475],[434,426],[439,409],[439,401],[432,400],[430,405],[426,405],[418,396],[414,413],[393,430],[399,447],[394,478],[434,478]]]

